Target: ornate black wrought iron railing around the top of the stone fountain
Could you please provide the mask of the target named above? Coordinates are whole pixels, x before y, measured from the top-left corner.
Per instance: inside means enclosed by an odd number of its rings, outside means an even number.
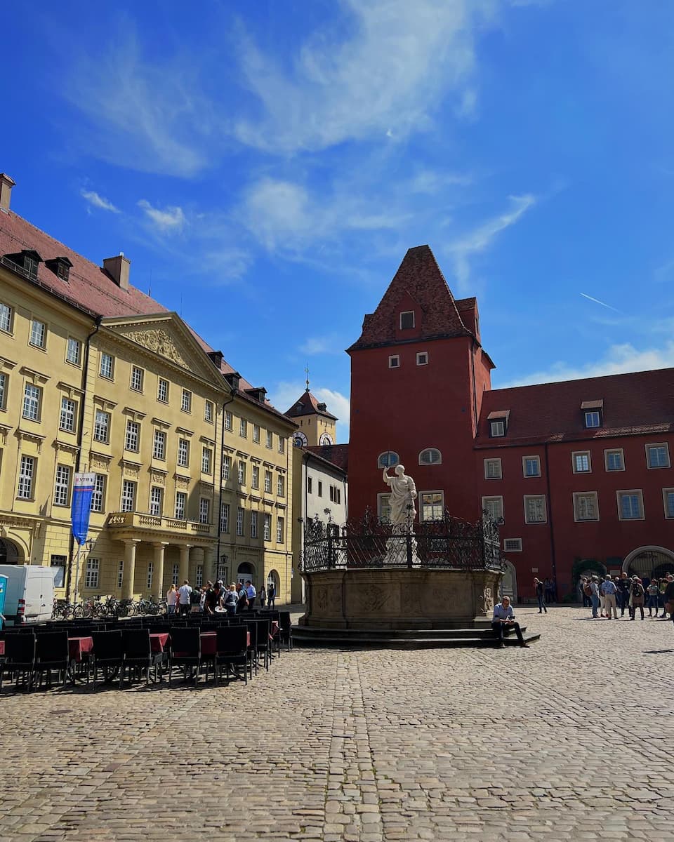
[[[366,512],[338,525],[318,516],[304,529],[302,571],[350,568],[502,570],[498,525],[484,514],[470,524],[445,512],[441,520],[392,525]]]

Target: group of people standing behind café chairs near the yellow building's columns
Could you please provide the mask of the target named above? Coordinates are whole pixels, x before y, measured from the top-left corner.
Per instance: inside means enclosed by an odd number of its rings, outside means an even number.
[[[169,614],[192,614],[203,612],[214,615],[226,611],[227,614],[241,614],[242,611],[252,611],[256,601],[260,608],[267,605],[275,607],[276,589],[274,584],[269,584],[267,589],[263,584],[256,590],[250,579],[237,584],[230,584],[227,587],[218,580],[215,584],[206,582],[201,587],[192,588],[188,579],[185,579],[179,588],[172,584],[166,594],[166,605]]]

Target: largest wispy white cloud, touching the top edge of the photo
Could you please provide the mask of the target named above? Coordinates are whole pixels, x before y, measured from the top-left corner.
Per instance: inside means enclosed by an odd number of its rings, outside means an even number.
[[[242,66],[262,106],[259,119],[238,120],[240,141],[271,152],[332,147],[431,128],[447,93],[471,112],[473,38],[488,21],[489,0],[341,0],[350,19],[317,31],[290,70],[242,40]],[[344,21],[341,21],[343,24]],[[340,37],[341,36],[341,37]]]

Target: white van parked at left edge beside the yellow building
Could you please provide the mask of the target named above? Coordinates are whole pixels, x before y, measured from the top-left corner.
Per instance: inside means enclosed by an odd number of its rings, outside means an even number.
[[[3,614],[8,626],[51,620],[54,573],[58,569],[38,564],[0,564],[0,576],[7,576]]]

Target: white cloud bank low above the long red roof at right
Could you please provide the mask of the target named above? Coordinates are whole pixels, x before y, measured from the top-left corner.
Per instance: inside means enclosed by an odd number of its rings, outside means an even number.
[[[629,371],[670,368],[674,366],[674,342],[669,341],[657,348],[636,349],[634,345],[612,345],[602,360],[587,365],[568,365],[557,362],[550,368],[534,371],[516,377],[498,388],[508,386],[531,386],[534,383],[551,383],[561,380],[580,380],[584,377],[601,377],[611,374],[627,374]]]

